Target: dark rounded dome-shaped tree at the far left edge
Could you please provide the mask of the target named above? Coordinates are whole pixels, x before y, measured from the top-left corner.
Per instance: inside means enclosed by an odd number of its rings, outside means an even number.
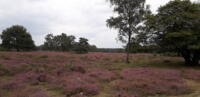
[[[3,30],[2,47],[6,49],[15,49],[17,51],[30,51],[35,49],[34,41],[26,28],[20,25],[14,25]]]

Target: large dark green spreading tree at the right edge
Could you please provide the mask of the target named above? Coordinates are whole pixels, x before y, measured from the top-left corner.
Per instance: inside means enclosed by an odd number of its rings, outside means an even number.
[[[163,48],[176,50],[187,65],[200,59],[200,4],[189,0],[173,0],[148,16],[145,23],[155,42]]]

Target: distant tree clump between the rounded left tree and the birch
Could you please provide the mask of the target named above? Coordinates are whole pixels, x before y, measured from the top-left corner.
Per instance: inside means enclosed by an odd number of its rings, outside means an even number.
[[[75,51],[76,53],[87,53],[96,49],[95,45],[90,45],[88,39],[79,38],[76,42],[76,37],[73,35],[67,36],[65,33],[54,36],[48,34],[45,37],[45,42],[39,47],[43,51]]]

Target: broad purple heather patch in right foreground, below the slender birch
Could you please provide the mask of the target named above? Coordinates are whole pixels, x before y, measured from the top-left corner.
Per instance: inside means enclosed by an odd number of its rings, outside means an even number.
[[[168,69],[134,68],[121,73],[122,80],[114,88],[145,95],[180,95],[188,91],[180,72]]]

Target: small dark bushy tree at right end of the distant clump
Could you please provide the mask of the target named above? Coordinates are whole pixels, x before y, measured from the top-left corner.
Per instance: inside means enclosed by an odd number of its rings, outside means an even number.
[[[75,51],[80,54],[88,53],[89,46],[88,39],[81,37],[79,42],[76,43]]]

